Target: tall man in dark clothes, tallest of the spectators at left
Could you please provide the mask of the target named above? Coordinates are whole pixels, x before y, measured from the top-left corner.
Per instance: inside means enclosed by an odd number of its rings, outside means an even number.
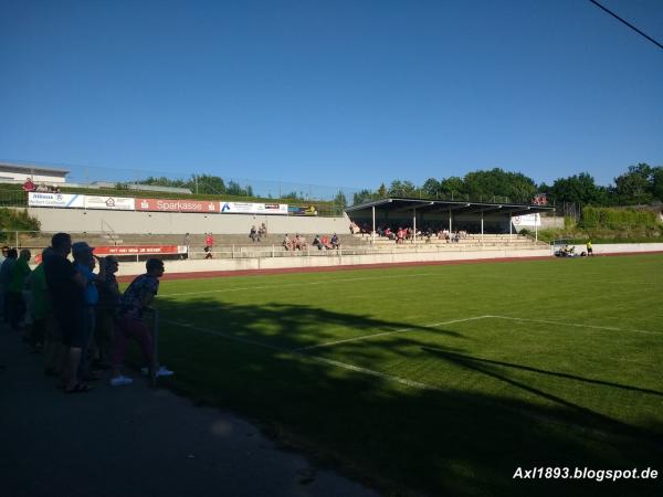
[[[85,346],[83,290],[87,286],[87,279],[66,258],[72,251],[72,237],[69,233],[54,234],[51,247],[53,251],[44,260],[44,274],[53,315],[62,334],[62,345],[66,348],[62,368],[64,391],[87,392],[91,390],[90,385],[78,381],[78,366]]]

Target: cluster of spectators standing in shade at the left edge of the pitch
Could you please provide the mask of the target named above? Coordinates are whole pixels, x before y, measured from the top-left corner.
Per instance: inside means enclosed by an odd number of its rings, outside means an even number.
[[[32,271],[29,250],[19,254],[3,247],[0,292],[4,321],[23,334],[32,351],[43,352],[44,374],[57,378],[66,393],[88,392],[90,382],[99,380],[108,369],[113,387],[131,383],[122,373],[130,339],[143,351],[144,373],[172,374],[154,360],[145,316],[158,293],[164,262],[148,260],[146,273],[123,294],[115,277],[118,261],[98,257],[93,251],[86,242],[72,243],[70,234],[57,233]]]

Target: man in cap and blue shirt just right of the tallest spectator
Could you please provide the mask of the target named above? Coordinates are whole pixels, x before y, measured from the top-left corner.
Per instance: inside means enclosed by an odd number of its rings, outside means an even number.
[[[72,255],[74,257],[74,267],[81,273],[86,281],[83,292],[83,313],[82,326],[84,334],[83,350],[81,353],[81,362],[78,364],[78,376],[85,381],[98,380],[98,378],[90,370],[94,349],[94,325],[95,309],[99,302],[99,293],[97,283],[106,279],[106,264],[103,260],[93,254],[94,248],[85,242],[76,242],[72,245]],[[95,260],[99,262],[99,273],[94,274]]]

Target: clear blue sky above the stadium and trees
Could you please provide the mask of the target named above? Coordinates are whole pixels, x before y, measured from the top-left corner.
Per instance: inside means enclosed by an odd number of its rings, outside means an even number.
[[[663,1],[602,0],[663,41]],[[585,0],[0,0],[0,159],[377,188],[663,165],[663,50]]]

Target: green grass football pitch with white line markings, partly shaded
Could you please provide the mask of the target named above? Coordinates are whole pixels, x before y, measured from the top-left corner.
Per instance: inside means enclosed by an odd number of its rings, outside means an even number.
[[[388,495],[656,495],[513,475],[663,472],[662,295],[662,255],[165,281],[164,384]]]

